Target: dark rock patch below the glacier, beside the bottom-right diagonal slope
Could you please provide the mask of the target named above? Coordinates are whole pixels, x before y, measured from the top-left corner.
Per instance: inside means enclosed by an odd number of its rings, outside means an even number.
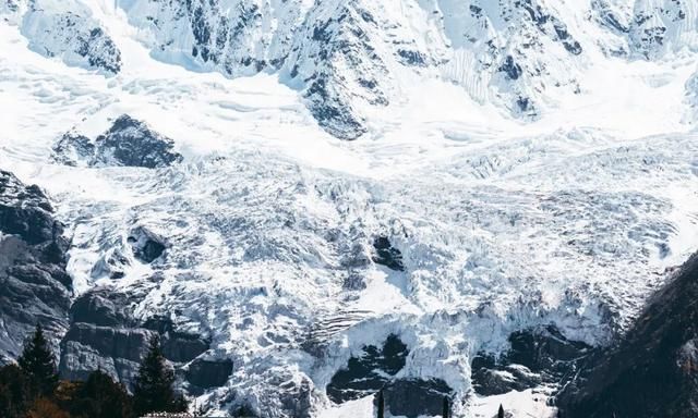
[[[524,391],[541,383],[566,382],[592,354],[589,345],[567,340],[554,325],[512,333],[512,347],[501,358],[479,354],[472,383],[480,395]]]

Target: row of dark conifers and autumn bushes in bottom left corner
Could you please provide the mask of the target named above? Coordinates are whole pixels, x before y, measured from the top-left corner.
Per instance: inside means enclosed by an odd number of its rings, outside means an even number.
[[[36,327],[16,364],[0,368],[0,417],[135,418],[149,413],[183,413],[184,396],[173,389],[174,371],[153,336],[135,378],[133,394],[100,370],[85,381],[60,380],[44,330]]]

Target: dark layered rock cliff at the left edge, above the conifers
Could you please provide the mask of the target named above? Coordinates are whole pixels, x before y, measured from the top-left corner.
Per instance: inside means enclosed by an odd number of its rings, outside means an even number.
[[[46,195],[0,170],[0,359],[15,358],[36,323],[68,328],[68,246]]]

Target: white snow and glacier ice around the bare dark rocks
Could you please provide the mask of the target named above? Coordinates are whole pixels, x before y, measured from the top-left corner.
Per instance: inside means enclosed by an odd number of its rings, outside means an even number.
[[[71,0],[120,51],[121,70],[105,76],[70,54],[64,65],[37,51],[48,23],[22,17],[33,2],[7,1],[0,167],[55,201],[72,236],[76,296],[95,285],[137,290],[146,296],[136,316],[169,316],[232,358],[230,382],[200,399],[221,411],[248,399],[284,416],[279,383],[303,381],[316,416],[370,410],[369,398],[332,405],[325,385],[364,344],[396,333],[410,348],[399,377],[444,379],[458,394],[456,416],[492,416],[502,399],[547,416],[545,394],[474,396],[471,356],[500,353],[512,331],[550,322],[605,344],[666,269],[698,248],[694,2],[532,1],[565,23],[578,56],[514,1],[219,2],[231,20],[240,4],[260,3],[260,22],[239,38],[246,49],[224,49],[240,53],[226,58],[233,64],[281,60],[258,72],[196,62],[193,35],[178,23],[186,17],[168,14],[166,2]],[[323,47],[310,39],[312,21],[344,7],[381,16],[382,29],[360,37],[375,52],[362,58],[366,67],[313,61]],[[642,27],[669,26],[665,41],[638,40],[638,10],[649,15]],[[155,12],[157,23],[144,22]],[[516,16],[505,22],[507,13]],[[609,26],[607,13],[627,30]],[[531,39],[533,50],[524,48]],[[498,52],[484,52],[488,40]],[[421,51],[425,65],[399,63],[399,45]],[[517,81],[494,71],[507,54],[520,62]],[[300,74],[348,81],[333,88],[363,119],[363,136],[344,142],[318,126],[304,87],[289,78],[297,64]],[[364,75],[380,88],[353,91]],[[535,118],[503,111],[520,95],[541,103]],[[174,139],[184,162],[52,162],[64,132],[95,137],[122,113]],[[117,281],[93,279],[105,254],[129,254],[137,226],[167,239],[166,257],[134,260]],[[402,253],[405,272],[370,261],[375,235]],[[346,288],[357,276],[365,288]],[[322,357],[302,349],[309,335],[326,343]]]

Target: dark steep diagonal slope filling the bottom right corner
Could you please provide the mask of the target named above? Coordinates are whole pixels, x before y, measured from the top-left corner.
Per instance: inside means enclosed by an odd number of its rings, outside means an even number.
[[[698,256],[558,396],[565,417],[698,416]]]

